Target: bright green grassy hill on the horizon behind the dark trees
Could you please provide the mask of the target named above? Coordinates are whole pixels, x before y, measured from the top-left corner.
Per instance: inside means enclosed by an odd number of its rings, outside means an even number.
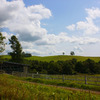
[[[10,59],[10,56],[2,56],[2,59]],[[62,60],[62,61],[66,61],[66,60],[71,60],[71,59],[77,59],[77,61],[85,61],[86,59],[92,59],[95,62],[100,61],[100,57],[84,57],[84,56],[68,56],[68,55],[56,55],[56,56],[32,56],[32,57],[26,57],[25,59],[27,60],[38,60],[38,61],[58,61],[58,60]]]

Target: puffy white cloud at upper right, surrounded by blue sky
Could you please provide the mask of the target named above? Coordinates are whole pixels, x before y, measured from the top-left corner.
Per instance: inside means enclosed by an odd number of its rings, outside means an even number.
[[[69,30],[83,31],[84,34],[91,35],[96,34],[100,31],[100,28],[94,24],[94,19],[100,18],[100,9],[91,8],[85,9],[88,16],[85,18],[85,21],[79,21],[76,24],[67,26]]]

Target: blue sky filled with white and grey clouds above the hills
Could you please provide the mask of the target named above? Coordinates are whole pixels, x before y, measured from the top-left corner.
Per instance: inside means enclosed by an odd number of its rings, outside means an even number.
[[[0,0],[0,30],[32,55],[100,56],[100,0]]]

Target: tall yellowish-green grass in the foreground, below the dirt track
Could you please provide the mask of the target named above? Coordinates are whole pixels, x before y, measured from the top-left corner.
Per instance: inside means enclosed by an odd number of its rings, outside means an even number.
[[[23,82],[18,77],[0,74],[0,100],[100,100],[100,96]]]

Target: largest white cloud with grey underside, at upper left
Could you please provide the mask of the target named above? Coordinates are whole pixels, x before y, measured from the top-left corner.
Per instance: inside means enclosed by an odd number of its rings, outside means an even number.
[[[19,34],[22,41],[36,41],[47,34],[40,20],[49,18],[51,11],[43,5],[25,7],[23,0],[0,0],[0,27]]]

